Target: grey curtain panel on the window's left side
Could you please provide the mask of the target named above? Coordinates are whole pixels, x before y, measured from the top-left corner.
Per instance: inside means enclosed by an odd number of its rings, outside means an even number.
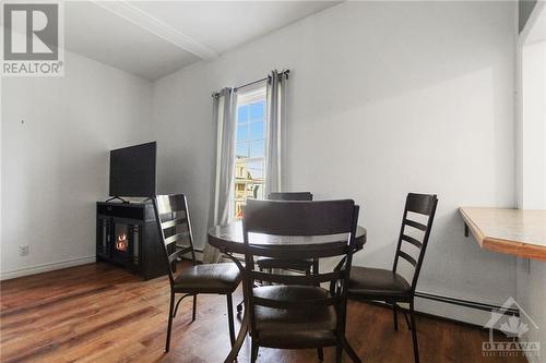
[[[214,164],[209,227],[229,222],[229,201],[234,193],[235,126],[237,99],[233,88],[213,95],[213,122],[216,124],[216,159]],[[205,244],[203,262],[217,263],[218,250]]]

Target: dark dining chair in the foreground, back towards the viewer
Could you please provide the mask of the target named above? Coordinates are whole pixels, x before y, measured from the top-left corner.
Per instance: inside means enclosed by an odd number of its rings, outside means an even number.
[[[247,201],[242,219],[245,241],[245,287],[250,319],[251,362],[259,347],[277,349],[336,348],[336,362],[345,350],[354,362],[358,355],[345,338],[348,283],[358,206],[354,201],[281,202]],[[260,244],[254,234],[275,238],[306,237],[306,244]],[[328,234],[346,233],[341,242],[320,243]],[[252,238],[249,237],[252,235]],[[275,239],[274,238],[274,239]],[[340,257],[343,267],[316,275],[281,275],[260,271],[256,257],[327,258]],[[254,287],[256,281],[269,282]],[[330,290],[320,283],[330,282]]]

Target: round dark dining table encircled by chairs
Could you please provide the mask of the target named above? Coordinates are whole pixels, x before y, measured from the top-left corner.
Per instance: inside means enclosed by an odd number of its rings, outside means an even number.
[[[348,240],[348,233],[340,234],[329,234],[329,235],[271,235],[271,234],[260,234],[260,233],[249,233],[249,241],[251,244],[271,244],[271,245],[306,245],[306,244],[317,244],[317,243],[332,243],[332,242],[343,242]],[[366,228],[358,226],[355,235],[355,252],[361,250],[366,243]],[[209,229],[209,244],[213,247],[219,250],[227,257],[233,259],[237,266],[245,274],[244,265],[230,254],[245,254],[245,241],[242,240],[242,222],[240,220],[224,225],[215,226]],[[245,283],[246,279],[242,279]],[[244,286],[244,292],[247,288]],[[245,310],[246,311],[246,310]],[[241,322],[239,334],[237,335],[237,340],[232,347],[232,351],[224,360],[225,363],[235,362],[237,354],[239,353],[242,343],[247,337],[249,322],[248,315],[245,316]]]

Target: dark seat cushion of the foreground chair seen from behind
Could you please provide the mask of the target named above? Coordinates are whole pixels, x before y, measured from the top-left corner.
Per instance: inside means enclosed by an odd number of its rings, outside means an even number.
[[[335,343],[335,308],[306,304],[309,300],[329,298],[328,290],[307,286],[265,286],[253,291],[256,298],[301,301],[300,307],[289,308],[254,305],[256,328],[261,346],[295,349]]]

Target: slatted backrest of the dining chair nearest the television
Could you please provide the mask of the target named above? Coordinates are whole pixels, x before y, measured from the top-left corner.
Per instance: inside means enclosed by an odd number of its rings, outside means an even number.
[[[157,195],[154,197],[154,210],[159,240],[165,251],[167,273],[173,286],[177,258],[190,253],[193,265],[197,264],[188,201],[183,194]],[[179,241],[189,245],[180,245],[177,243]]]

